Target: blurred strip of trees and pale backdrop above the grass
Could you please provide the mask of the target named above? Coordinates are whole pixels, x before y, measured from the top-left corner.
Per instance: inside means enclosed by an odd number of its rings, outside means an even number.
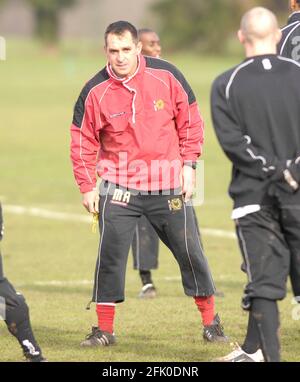
[[[226,52],[241,14],[263,5],[282,21],[284,0],[0,0],[0,35],[44,44],[99,41],[105,27],[124,19],[156,29],[164,50]],[[222,41],[220,41],[222,36]]]

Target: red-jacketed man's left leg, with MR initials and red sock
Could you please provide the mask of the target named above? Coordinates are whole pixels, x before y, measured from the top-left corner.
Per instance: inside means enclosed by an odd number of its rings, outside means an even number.
[[[95,269],[93,299],[98,327],[93,327],[81,346],[107,346],[115,343],[116,303],[125,299],[125,273],[134,229],[141,215],[138,196],[126,194],[108,183],[99,204],[101,238]]]

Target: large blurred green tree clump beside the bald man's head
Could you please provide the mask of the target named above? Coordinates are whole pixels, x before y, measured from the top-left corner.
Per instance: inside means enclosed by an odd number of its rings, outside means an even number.
[[[164,47],[169,50],[223,52],[236,33],[242,14],[265,6],[285,22],[288,0],[160,0],[152,11]]]

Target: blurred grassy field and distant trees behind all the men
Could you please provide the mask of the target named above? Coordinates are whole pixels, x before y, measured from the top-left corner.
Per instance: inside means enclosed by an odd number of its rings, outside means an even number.
[[[242,340],[245,276],[239,272],[230,220],[230,164],[212,128],[210,88],[218,74],[243,60],[235,37],[241,14],[265,5],[284,25],[288,3],[0,0],[2,50],[6,42],[6,59],[0,59],[1,252],[7,277],[26,295],[37,338],[50,361],[209,361],[228,353],[226,345],[206,347],[201,342],[198,313],[184,296],[177,264],[162,244],[160,267],[154,272],[158,297],[151,302],[137,298],[140,281],[129,256],[126,303],[116,319],[119,346],[105,353],[83,353],[78,346],[95,319],[94,309],[86,311],[85,306],[98,235],[91,233],[91,217],[73,178],[69,126],[82,87],[105,65],[103,32],[120,19],[155,29],[162,57],[177,65],[196,94],[205,121],[205,183],[197,185],[205,190],[204,203],[196,213],[217,289],[225,295],[217,301],[218,311],[226,333]],[[300,342],[294,335],[299,325],[291,320],[292,308],[289,294],[282,307],[283,358],[299,361]],[[1,322],[0,337],[5,349],[0,361],[19,360],[20,350]]]

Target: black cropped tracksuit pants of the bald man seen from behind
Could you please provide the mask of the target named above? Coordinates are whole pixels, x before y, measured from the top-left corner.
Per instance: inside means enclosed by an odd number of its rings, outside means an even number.
[[[248,275],[246,309],[253,297],[283,299],[289,273],[293,292],[300,296],[300,205],[275,203],[236,220]]]

